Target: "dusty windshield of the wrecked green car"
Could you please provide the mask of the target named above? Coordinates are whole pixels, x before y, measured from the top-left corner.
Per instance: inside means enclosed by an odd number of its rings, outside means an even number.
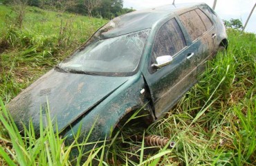
[[[149,29],[110,39],[94,39],[59,67],[66,72],[132,73],[140,62],[148,35]]]

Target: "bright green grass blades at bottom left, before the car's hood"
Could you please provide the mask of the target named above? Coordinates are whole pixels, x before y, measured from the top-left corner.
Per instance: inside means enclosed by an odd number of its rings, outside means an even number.
[[[65,146],[65,138],[61,138],[59,133],[55,133],[55,129],[53,129],[53,123],[51,122],[48,109],[46,111],[47,127],[44,127],[44,118],[42,118],[41,114],[39,138],[37,138],[32,122],[28,129],[24,127],[24,134],[21,135],[15,122],[12,120],[8,111],[6,111],[2,100],[0,100],[0,104],[0,120],[3,129],[7,133],[1,133],[0,135],[1,165],[80,165],[80,159],[85,155],[84,152],[80,151],[77,158],[71,158],[71,149],[82,149],[85,145],[91,144],[91,142],[84,141],[80,144],[77,143],[77,138],[79,137],[79,134],[77,134],[71,145]],[[90,133],[88,136],[90,136]],[[104,145],[87,151],[86,153],[89,157],[84,160],[84,163],[90,165],[93,164],[94,160],[99,160],[99,151],[102,149],[104,151]],[[101,161],[103,160],[101,159]]]

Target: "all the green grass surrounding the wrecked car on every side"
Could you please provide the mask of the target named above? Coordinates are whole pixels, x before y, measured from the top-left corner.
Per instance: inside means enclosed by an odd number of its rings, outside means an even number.
[[[8,47],[0,54],[0,95],[5,103],[88,39],[84,30],[91,26],[78,24],[87,25],[86,21],[88,24],[93,21],[96,28],[105,22],[72,17],[77,18],[73,20],[77,21],[77,26],[73,27],[77,33],[69,36],[68,48],[65,48],[58,40],[60,20],[59,26],[52,20],[57,13],[42,10],[48,15],[48,21],[36,31],[41,26],[35,18],[43,15],[33,10],[39,9],[28,8],[30,14],[26,20],[30,21],[25,21],[23,28],[5,26],[7,30],[1,38],[1,41],[8,41]],[[0,16],[3,11],[10,13],[10,8],[0,6]],[[0,21],[3,27],[2,19]],[[29,23],[31,21],[34,25]],[[54,33],[51,30],[55,26]],[[232,29],[228,30],[228,37],[228,51],[218,53],[208,62],[200,81],[166,113],[165,118],[145,131],[145,136],[165,136],[175,141],[173,149],[147,147],[144,141],[127,140],[122,132],[118,132],[119,136],[114,136],[110,142],[89,151],[84,165],[93,165],[95,160],[100,165],[256,165],[256,37]],[[71,165],[70,150],[75,147],[79,147],[80,153],[74,160],[82,159],[81,149],[89,142],[79,144],[74,141],[65,147],[64,138],[53,132],[50,117],[50,127],[41,129],[39,138],[35,138],[32,125],[25,136],[21,136],[3,102],[0,165]],[[126,146],[120,147],[124,144]],[[102,151],[104,153],[100,153]],[[109,159],[105,160],[103,154]]]

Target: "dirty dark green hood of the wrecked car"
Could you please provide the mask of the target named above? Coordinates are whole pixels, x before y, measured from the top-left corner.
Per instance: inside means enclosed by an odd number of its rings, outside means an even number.
[[[35,130],[38,130],[40,109],[44,120],[49,106],[53,124],[57,122],[58,129],[62,130],[84,116],[84,113],[107,98],[128,79],[129,77],[60,73],[51,70],[17,95],[7,108],[19,129],[23,128],[23,124],[28,127],[32,120]]]

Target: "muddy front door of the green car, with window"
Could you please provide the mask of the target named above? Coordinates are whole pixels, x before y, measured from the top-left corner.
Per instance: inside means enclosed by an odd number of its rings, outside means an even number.
[[[156,58],[171,55],[172,62],[156,68]],[[152,46],[148,73],[143,73],[149,86],[156,117],[169,111],[177,100],[196,82],[196,59],[187,46],[185,37],[175,18],[158,29]]]

